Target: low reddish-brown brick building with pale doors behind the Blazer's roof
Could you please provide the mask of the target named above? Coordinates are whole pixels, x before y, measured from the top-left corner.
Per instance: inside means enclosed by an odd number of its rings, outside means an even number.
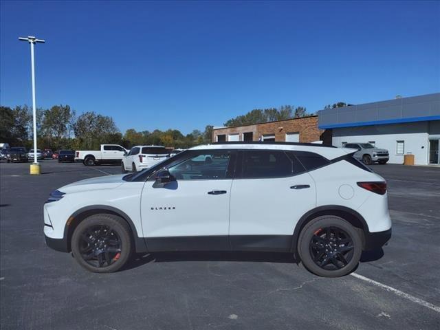
[[[277,141],[331,144],[331,130],[318,129],[318,115],[263,124],[222,127],[212,131],[212,142]]]

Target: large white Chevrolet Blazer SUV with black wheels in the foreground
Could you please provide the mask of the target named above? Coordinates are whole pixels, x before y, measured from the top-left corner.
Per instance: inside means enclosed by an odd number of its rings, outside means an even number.
[[[50,195],[47,245],[92,272],[133,252],[291,252],[311,272],[342,276],[391,237],[385,180],[318,144],[197,146],[139,173],[85,179]]]

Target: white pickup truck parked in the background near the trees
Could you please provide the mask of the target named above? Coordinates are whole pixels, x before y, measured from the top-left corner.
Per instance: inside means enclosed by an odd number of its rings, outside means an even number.
[[[118,144],[101,144],[101,150],[75,151],[75,161],[81,161],[85,166],[96,164],[121,164],[126,149]]]

